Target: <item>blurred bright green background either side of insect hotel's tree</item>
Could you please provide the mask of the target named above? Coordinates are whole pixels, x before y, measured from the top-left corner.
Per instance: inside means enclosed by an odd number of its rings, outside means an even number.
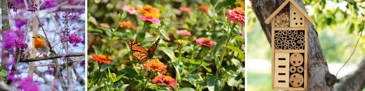
[[[348,3],[350,2],[350,3]],[[308,15],[315,21],[314,27],[328,62],[331,74],[337,71],[351,55],[356,45],[357,24],[364,20],[363,2],[342,0],[305,0]],[[247,91],[271,90],[271,48],[249,0],[247,4]],[[339,71],[337,78],[349,74],[365,54],[365,33],[349,62]],[[365,91],[362,90],[362,91]]]

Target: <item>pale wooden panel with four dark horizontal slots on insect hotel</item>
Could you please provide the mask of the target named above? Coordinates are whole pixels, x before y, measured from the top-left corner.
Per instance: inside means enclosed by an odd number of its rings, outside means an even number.
[[[289,87],[289,53],[275,53],[275,69],[274,69],[274,87]],[[285,58],[285,60],[279,60],[279,58]],[[285,66],[285,68],[280,68],[279,66]],[[279,75],[279,73],[284,73],[285,75]],[[279,80],[284,80],[284,83],[279,83]]]

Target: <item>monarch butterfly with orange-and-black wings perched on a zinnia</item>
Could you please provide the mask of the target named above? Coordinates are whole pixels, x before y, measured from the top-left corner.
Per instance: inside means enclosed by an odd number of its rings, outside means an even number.
[[[149,59],[153,59],[153,55],[155,54],[155,50],[157,48],[158,42],[160,42],[160,38],[155,41],[155,43],[150,47],[147,51],[145,48],[141,47],[139,44],[131,41],[131,40],[124,40],[129,46],[129,49],[132,50],[131,55],[138,61],[139,64],[145,63]]]

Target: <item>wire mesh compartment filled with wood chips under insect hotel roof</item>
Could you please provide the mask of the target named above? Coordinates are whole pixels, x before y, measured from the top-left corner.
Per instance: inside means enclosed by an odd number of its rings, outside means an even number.
[[[291,4],[288,3],[283,9],[274,17],[274,30],[291,30]]]

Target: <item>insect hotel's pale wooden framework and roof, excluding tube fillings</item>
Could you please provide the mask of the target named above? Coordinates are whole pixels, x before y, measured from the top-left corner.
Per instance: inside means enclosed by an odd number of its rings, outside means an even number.
[[[290,27],[287,27],[287,28],[282,28],[282,27],[275,27],[274,28],[274,25],[273,24],[277,24],[275,23],[274,21],[274,17],[276,17],[276,15],[278,15],[279,12],[282,11],[282,9],[287,5],[287,4],[291,4],[291,15],[290,15],[290,18],[291,18],[291,24],[290,24]],[[298,14],[295,14],[294,15],[294,12],[300,12]],[[304,19],[294,19],[294,17],[300,17],[300,18],[304,18]],[[280,21],[278,21],[280,23]],[[271,54],[272,54],[272,90],[297,90],[297,91],[304,91],[304,90],[307,90],[307,73],[308,73],[308,24],[309,23],[314,23],[314,20],[311,19],[311,17],[309,17],[309,15],[299,7],[299,5],[297,5],[293,0],[286,0],[284,1],[283,4],[280,5],[280,7],[278,9],[276,9],[276,11],[270,15],[270,17],[268,17],[268,19],[265,21],[266,24],[269,24],[271,23],[271,47],[272,47],[272,51],[271,51]],[[296,24],[296,25],[293,25],[295,23],[302,23],[300,25]],[[304,23],[304,24],[303,24]],[[276,49],[276,47],[279,45],[280,46],[280,42],[277,43],[276,40],[280,40],[278,39],[278,36],[275,36],[275,33],[277,33],[278,31],[280,32],[284,32],[284,31],[301,31],[301,33],[304,33],[303,38],[304,38],[304,48],[299,50],[299,49]],[[304,31],[304,32],[303,32]],[[279,32],[279,35],[283,35],[283,34],[280,34]],[[290,33],[289,33],[290,34]],[[297,34],[297,33],[296,33]],[[285,34],[286,35],[286,34]],[[281,38],[281,37],[280,37]],[[301,38],[302,40],[301,41],[301,45],[303,45],[303,38]],[[283,39],[284,40],[284,39]],[[281,40],[281,41],[283,41]],[[286,40],[285,40],[286,41]],[[289,40],[290,41],[290,40]],[[299,40],[296,40],[296,41],[299,41]],[[277,44],[277,45],[274,45],[274,44]],[[281,44],[283,45],[283,44]],[[286,45],[288,46],[288,45]],[[286,82],[286,80],[289,79],[289,76],[285,75],[283,76],[283,74],[291,74],[289,72],[289,64],[291,64],[290,62],[288,63],[288,56],[290,56],[290,54],[293,54],[293,53],[300,53],[301,55],[303,55],[303,64],[301,64],[301,66],[304,67],[304,72],[301,73],[303,74],[303,85],[299,86],[299,87],[293,87],[291,86],[291,84],[289,84],[288,82]],[[296,55],[295,55],[296,57]],[[281,60],[279,59],[281,58]],[[286,59],[284,59],[286,58]],[[277,67],[277,66],[281,66],[281,67]],[[286,71],[285,71],[286,70]],[[280,73],[281,75],[278,75],[278,73]],[[293,72],[294,73],[294,72]],[[285,81],[284,81],[285,80]],[[281,82],[278,82],[278,81],[281,81]],[[289,81],[290,82],[290,81]],[[299,84],[299,83],[298,83]],[[295,86],[295,84],[293,84]]]

